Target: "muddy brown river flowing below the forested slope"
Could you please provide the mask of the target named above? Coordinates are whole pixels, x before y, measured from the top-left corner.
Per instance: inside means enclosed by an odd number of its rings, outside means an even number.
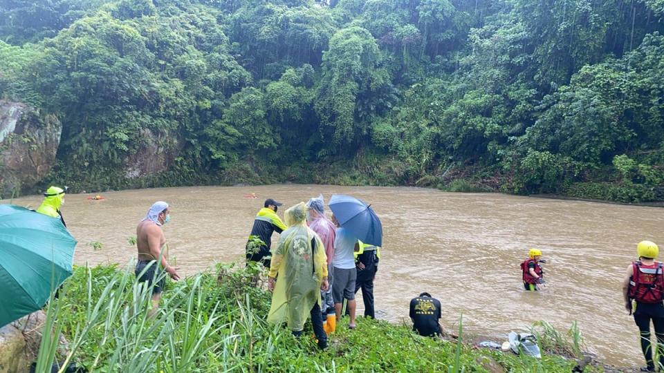
[[[246,198],[255,193],[258,198]],[[181,274],[214,262],[243,260],[255,213],[266,198],[287,207],[322,193],[354,195],[380,216],[385,237],[376,277],[378,318],[401,322],[422,291],[443,304],[445,329],[502,341],[510,330],[546,320],[561,331],[578,321],[587,350],[602,361],[643,365],[638,331],[623,309],[620,281],[636,243],[664,245],[664,209],[501,194],[443,193],[434,189],[283,184],[261,187],[183,187],[67,195],[62,208],[79,244],[75,262],[127,263],[128,242],[150,204],[171,204],[164,228]],[[41,198],[15,204],[38,207]],[[8,201],[2,201],[6,203]],[[277,240],[277,234],[273,240]],[[92,242],[102,242],[95,249]],[[519,263],[542,249],[546,288],[522,289]],[[358,296],[361,314],[362,297]],[[408,321],[409,322],[409,321]]]

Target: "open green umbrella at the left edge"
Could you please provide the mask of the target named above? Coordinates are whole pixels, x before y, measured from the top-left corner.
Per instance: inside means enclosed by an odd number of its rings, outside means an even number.
[[[44,307],[71,276],[75,246],[59,219],[0,204],[0,327]]]

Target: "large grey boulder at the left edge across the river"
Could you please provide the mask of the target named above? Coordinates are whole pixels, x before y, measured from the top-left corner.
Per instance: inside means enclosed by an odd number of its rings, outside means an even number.
[[[55,164],[62,124],[38,108],[0,99],[0,198],[34,187]]]

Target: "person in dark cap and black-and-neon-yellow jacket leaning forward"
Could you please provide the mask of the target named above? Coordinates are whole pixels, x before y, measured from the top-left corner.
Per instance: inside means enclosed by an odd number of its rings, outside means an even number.
[[[265,200],[263,208],[258,211],[254,218],[254,226],[251,229],[246,245],[247,262],[262,262],[266,268],[270,268],[270,247],[272,246],[272,233],[282,233],[286,230],[286,224],[277,216],[277,209],[281,206],[272,198]],[[256,247],[255,240],[261,240]],[[266,258],[268,257],[268,258]]]

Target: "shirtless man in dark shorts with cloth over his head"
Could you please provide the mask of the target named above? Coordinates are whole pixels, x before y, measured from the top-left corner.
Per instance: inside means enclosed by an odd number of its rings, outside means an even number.
[[[156,260],[161,257],[160,268],[165,270],[173,280],[179,280],[180,276],[176,271],[177,268],[168,265],[168,251],[162,248],[165,247],[166,238],[161,226],[170,220],[170,209],[166,202],[154,202],[152,207],[147,211],[147,215],[143,220],[138,223],[136,227],[136,246],[138,247],[138,262],[136,263],[136,278],[140,282],[147,282],[148,286],[153,286],[159,274],[155,274],[157,270]],[[145,267],[149,268],[145,270]],[[142,274],[145,270],[145,273]],[[159,307],[159,300],[161,298],[161,291],[164,287],[164,279],[161,278],[152,287],[152,309],[149,314],[153,315]]]

